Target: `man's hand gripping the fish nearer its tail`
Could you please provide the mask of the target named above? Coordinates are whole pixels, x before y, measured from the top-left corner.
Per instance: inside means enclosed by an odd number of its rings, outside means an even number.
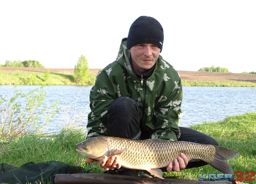
[[[176,171],[179,172],[180,170],[183,170],[188,165],[188,158],[183,153],[180,154],[180,157],[178,159],[174,160],[174,163],[170,162],[170,164],[166,167],[167,172]]]

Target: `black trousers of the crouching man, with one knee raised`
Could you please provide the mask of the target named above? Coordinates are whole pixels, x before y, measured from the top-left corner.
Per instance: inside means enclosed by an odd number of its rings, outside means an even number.
[[[149,133],[140,126],[140,110],[135,100],[129,97],[115,99],[108,107],[107,114],[108,136],[131,139],[141,131],[140,139],[149,139]],[[219,145],[210,136],[193,129],[180,127],[180,138],[178,141],[187,141],[199,144]],[[204,161],[188,162],[186,168],[207,165]],[[164,171],[164,168],[162,168]]]

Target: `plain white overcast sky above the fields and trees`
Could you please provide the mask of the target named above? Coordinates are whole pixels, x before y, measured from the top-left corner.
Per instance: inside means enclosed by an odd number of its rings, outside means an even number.
[[[163,26],[160,55],[176,70],[256,72],[255,10],[255,0],[0,1],[0,63],[73,69],[84,55],[90,69],[101,69],[144,15]]]

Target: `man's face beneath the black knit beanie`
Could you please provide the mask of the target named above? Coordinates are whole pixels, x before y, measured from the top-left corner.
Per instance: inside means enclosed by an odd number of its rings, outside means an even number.
[[[132,66],[136,73],[143,75],[154,66],[161,49],[154,44],[138,44],[129,49],[132,55]]]

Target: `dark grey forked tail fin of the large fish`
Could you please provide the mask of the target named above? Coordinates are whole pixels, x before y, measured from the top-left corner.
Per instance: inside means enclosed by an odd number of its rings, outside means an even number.
[[[233,169],[225,160],[236,157],[239,155],[239,152],[221,146],[214,147],[216,149],[215,157],[209,164],[222,173],[233,174]]]

